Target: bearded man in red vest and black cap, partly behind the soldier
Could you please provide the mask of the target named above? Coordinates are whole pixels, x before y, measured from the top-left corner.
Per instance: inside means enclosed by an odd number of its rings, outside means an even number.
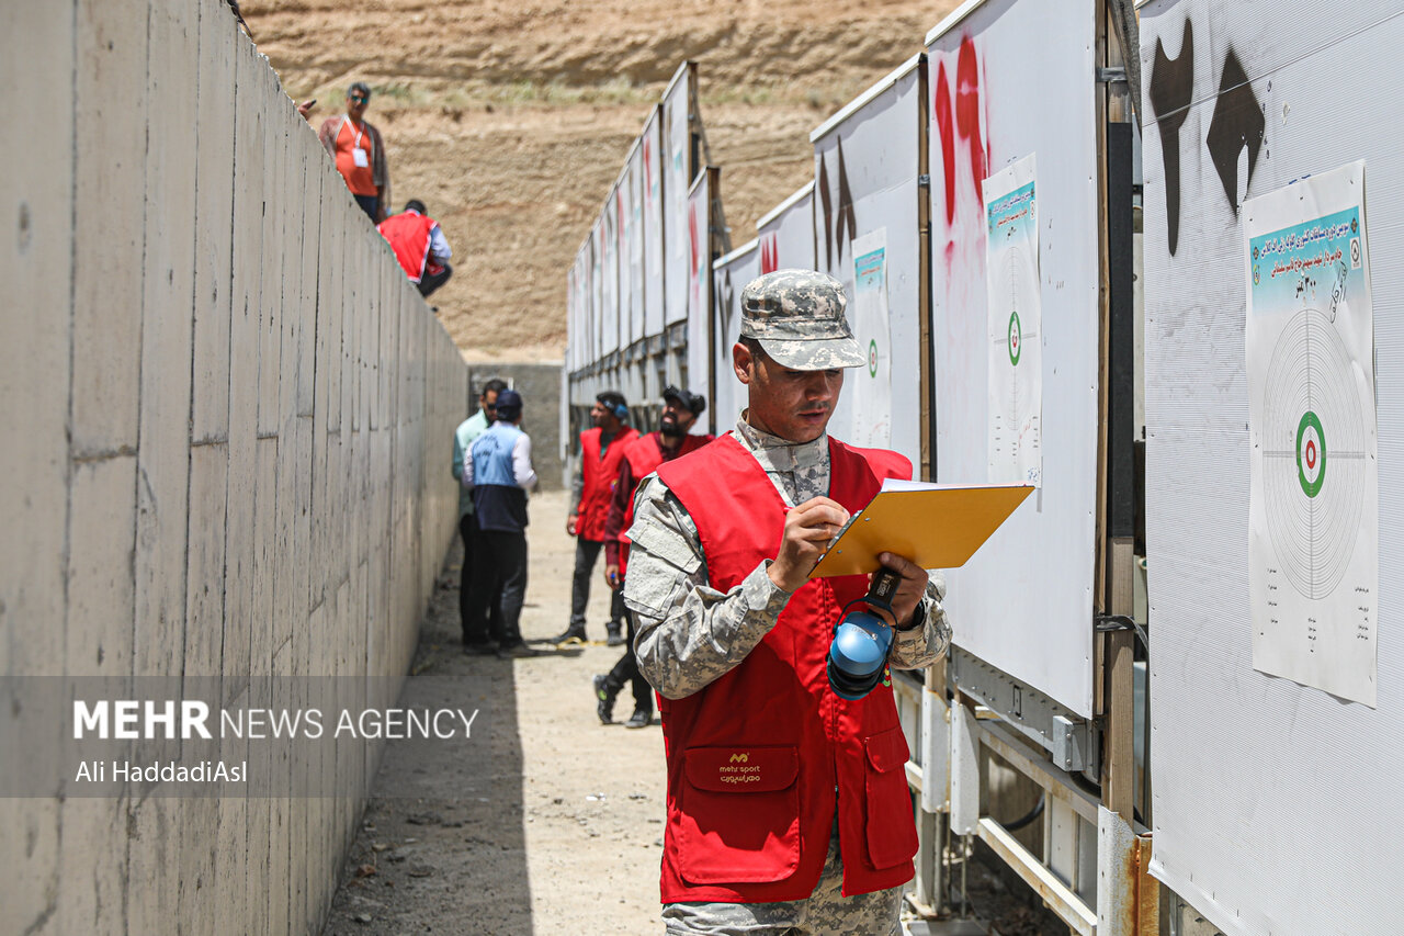
[[[658,429],[635,438],[623,450],[619,462],[619,479],[615,482],[614,498],[609,500],[609,517],[605,520],[605,583],[616,594],[623,589],[623,576],[629,564],[629,538],[625,531],[633,524],[633,492],[639,482],[651,475],[658,465],[678,455],[696,451],[712,441],[712,436],[689,434],[698,416],[706,409],[706,396],[689,394],[677,386],[663,391],[663,415]],[[633,689],[633,715],[623,722],[625,728],[646,728],[653,724],[653,687],[639,673],[633,656],[633,617],[625,611],[629,628],[623,656],[608,673],[594,679],[595,714],[601,724],[614,721],[615,697],[625,683]]]

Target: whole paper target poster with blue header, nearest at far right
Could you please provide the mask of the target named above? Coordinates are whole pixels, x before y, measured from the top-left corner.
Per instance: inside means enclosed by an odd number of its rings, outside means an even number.
[[[1375,704],[1379,479],[1365,164],[1244,204],[1252,665]]]

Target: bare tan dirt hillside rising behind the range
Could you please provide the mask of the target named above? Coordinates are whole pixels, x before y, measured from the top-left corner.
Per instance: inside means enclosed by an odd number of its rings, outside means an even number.
[[[560,360],[566,268],[684,59],[734,243],[813,177],[809,132],[921,48],[955,0],[243,0],[288,93],[373,90],[396,208],[453,247],[432,302],[470,360]]]

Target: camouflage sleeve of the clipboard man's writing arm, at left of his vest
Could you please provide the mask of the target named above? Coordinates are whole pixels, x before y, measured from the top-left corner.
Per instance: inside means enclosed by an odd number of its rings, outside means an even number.
[[[696,524],[657,475],[639,488],[629,538],[623,600],[635,613],[635,655],[665,698],[691,696],[737,666],[789,602],[765,575],[769,561],[724,594],[710,587]]]

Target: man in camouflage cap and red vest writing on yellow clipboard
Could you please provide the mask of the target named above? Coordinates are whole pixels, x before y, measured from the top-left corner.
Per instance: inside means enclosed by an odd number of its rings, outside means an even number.
[[[844,368],[868,361],[844,308],[821,273],[751,281],[731,349],[748,408],[635,498],[625,602],[663,714],[668,933],[899,932],[917,829],[892,683],[847,701],[826,675],[868,578],[807,578],[885,478],[911,476],[826,431]],[[901,576],[889,666],[927,666],[951,637],[942,582],[879,561]]]

